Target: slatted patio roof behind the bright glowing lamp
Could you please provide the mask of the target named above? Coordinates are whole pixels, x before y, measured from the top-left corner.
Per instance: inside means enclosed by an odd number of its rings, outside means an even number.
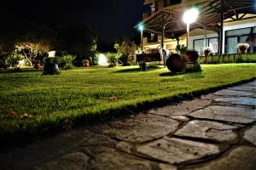
[[[148,19],[143,20],[144,30],[161,35],[163,26],[165,26],[166,37],[179,37],[186,32],[183,14],[192,7],[198,8],[200,15],[197,21],[191,24],[191,30],[207,28],[219,31],[222,13],[224,20],[243,20],[246,14],[255,14],[253,18],[256,18],[256,3],[253,0],[224,0],[223,3],[222,0],[195,0],[163,8],[151,15]]]

